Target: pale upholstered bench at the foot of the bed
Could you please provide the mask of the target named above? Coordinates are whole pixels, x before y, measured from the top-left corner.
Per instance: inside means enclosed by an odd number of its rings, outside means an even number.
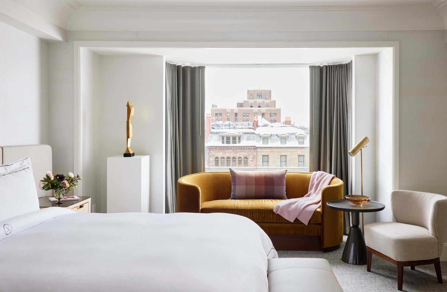
[[[271,258],[269,292],[343,292],[323,258]]]

